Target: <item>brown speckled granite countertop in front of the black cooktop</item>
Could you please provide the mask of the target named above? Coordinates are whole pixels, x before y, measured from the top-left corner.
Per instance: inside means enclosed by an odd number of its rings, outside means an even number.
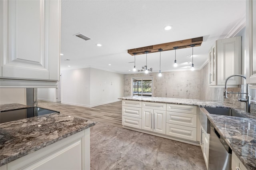
[[[0,166],[94,126],[95,123],[51,113],[0,124]]]

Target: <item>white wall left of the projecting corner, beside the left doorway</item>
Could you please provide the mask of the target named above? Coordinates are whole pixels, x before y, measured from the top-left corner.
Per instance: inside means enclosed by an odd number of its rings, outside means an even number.
[[[61,103],[90,107],[90,68],[63,70]]]

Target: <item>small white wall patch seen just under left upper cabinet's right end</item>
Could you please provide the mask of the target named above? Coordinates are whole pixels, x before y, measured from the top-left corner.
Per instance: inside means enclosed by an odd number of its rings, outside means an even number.
[[[45,100],[45,101],[57,101],[56,96],[56,88],[38,88],[38,99],[39,100]]]

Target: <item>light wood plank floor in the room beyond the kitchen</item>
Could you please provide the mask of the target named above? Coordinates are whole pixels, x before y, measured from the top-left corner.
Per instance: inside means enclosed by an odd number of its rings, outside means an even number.
[[[65,115],[122,127],[122,101],[89,108],[39,100],[38,107],[59,111]]]

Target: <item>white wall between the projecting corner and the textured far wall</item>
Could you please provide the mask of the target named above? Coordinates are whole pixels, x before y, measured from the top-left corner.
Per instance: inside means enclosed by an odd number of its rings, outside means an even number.
[[[90,105],[119,101],[123,97],[124,75],[90,68]]]

